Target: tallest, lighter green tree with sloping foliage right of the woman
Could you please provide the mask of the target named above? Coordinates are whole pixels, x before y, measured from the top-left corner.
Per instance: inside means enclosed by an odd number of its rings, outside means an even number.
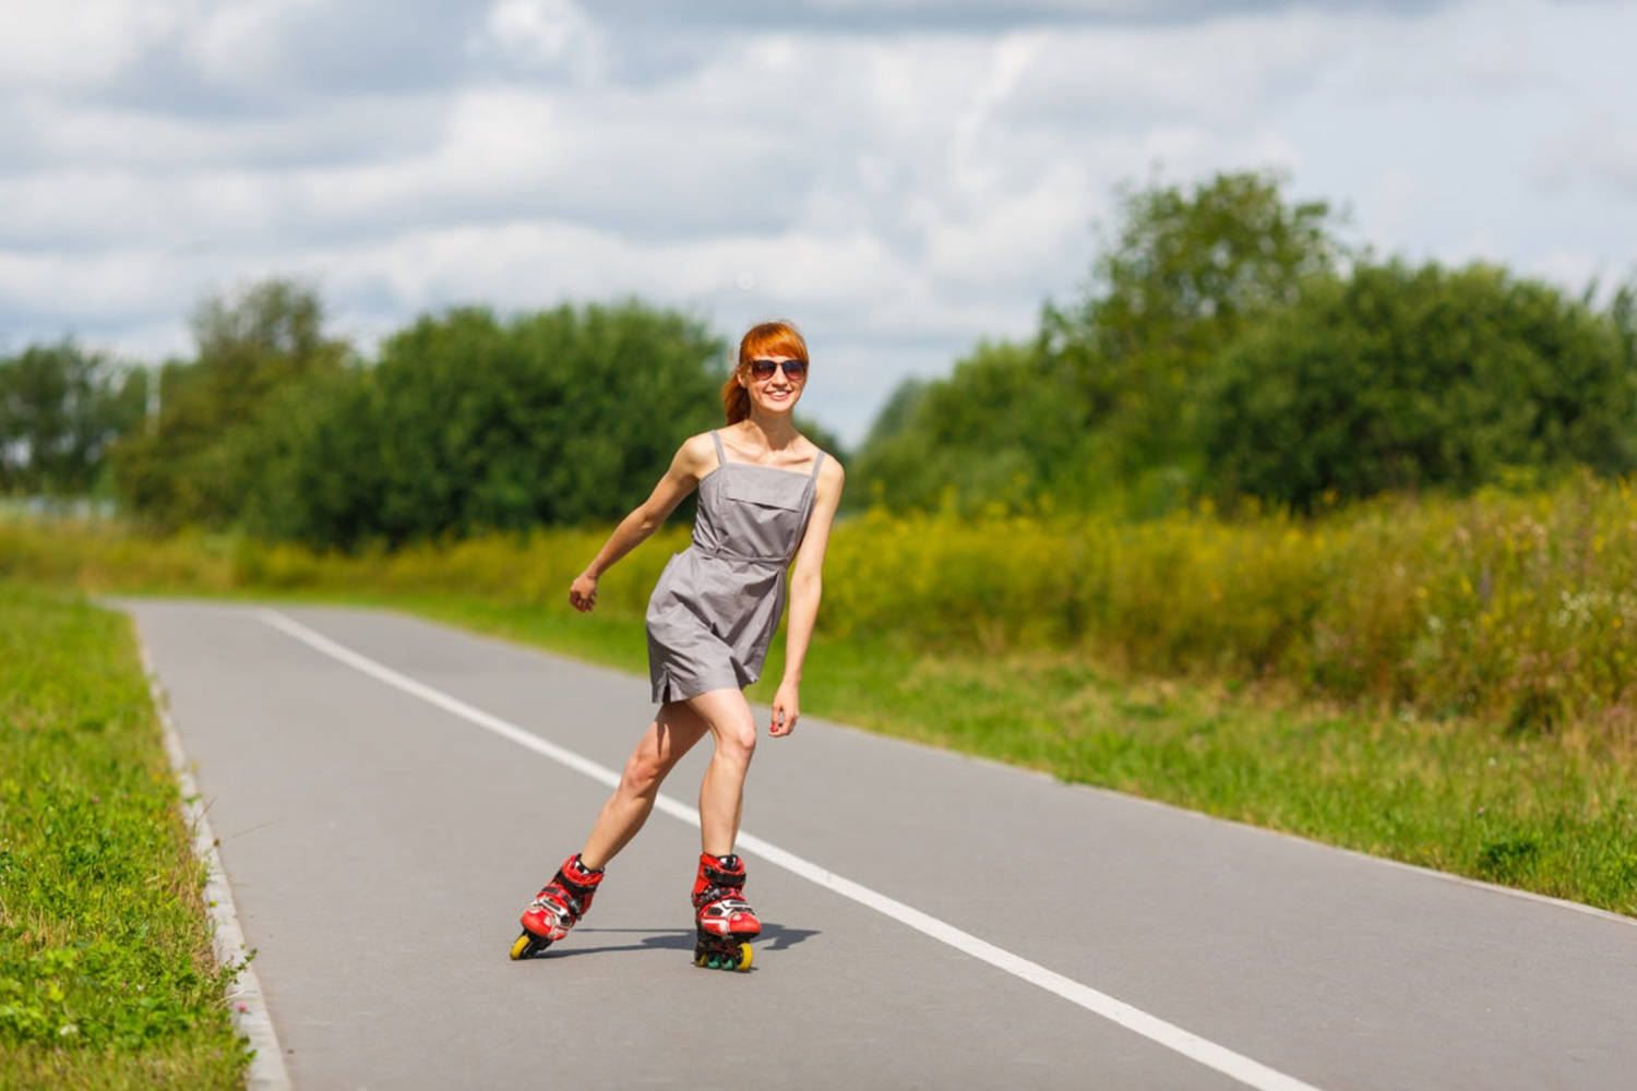
[[[1051,496],[1138,515],[1180,502],[1221,348],[1334,268],[1329,221],[1267,173],[1126,191],[1085,298],[1048,304],[1031,345],[981,345],[949,378],[902,386],[850,496],[972,510]]]

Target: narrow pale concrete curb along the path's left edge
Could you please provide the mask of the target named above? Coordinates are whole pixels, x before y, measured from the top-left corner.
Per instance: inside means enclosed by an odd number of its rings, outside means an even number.
[[[131,623],[136,633],[136,622]],[[239,927],[239,909],[232,901],[232,888],[228,885],[228,872],[221,867],[221,854],[216,851],[216,833],[205,816],[205,805],[200,798],[198,783],[188,769],[187,754],[182,751],[182,736],[170,720],[170,700],[165,687],[154,671],[154,661],[147,654],[147,644],[141,633],[136,635],[136,646],[142,656],[142,672],[147,674],[147,692],[154,700],[154,712],[159,715],[165,738],[165,754],[170,756],[170,769],[182,790],[178,808],[182,821],[193,836],[193,854],[205,864],[205,890],[200,896],[211,918],[211,949],[216,952],[216,963],[223,967],[239,967],[237,977],[228,985],[228,1014],[234,1029],[250,1040],[250,1065],[244,1073],[244,1086],[250,1091],[290,1091],[290,1071],[285,1068],[285,1053],[273,1032],[272,1016],[267,1012],[267,998],[262,994],[262,981],[250,965],[249,944],[244,942],[244,929]]]

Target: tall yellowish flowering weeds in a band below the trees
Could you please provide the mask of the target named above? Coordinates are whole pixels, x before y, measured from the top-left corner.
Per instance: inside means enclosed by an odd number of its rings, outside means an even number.
[[[622,561],[604,610],[638,613],[686,528]],[[146,541],[0,522],[0,576],[93,590],[493,597],[566,610],[602,530],[316,554],[252,540]],[[1344,700],[1477,715],[1517,733],[1590,723],[1637,744],[1637,499],[1552,491],[1383,499],[1301,520],[869,512],[835,530],[820,625],[918,648],[1069,649],[1149,674],[1280,679]]]

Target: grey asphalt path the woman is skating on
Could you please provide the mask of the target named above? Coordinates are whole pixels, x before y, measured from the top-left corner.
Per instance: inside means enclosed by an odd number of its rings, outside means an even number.
[[[812,718],[751,769],[750,973],[692,965],[673,813],[511,962],[647,679],[390,613],[121,605],[298,1088],[1637,1083],[1632,921]]]

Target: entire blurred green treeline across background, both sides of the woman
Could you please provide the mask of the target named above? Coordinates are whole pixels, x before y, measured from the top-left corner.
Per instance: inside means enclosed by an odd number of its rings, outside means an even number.
[[[1274,175],[1134,190],[1035,337],[892,394],[846,499],[1148,519],[1626,474],[1637,286],[1594,296],[1351,250]],[[0,491],[101,489],[159,530],[344,550],[609,522],[720,420],[728,363],[704,324],[638,301],[452,309],[363,360],[278,280],[206,301],[193,335],[156,373],[72,340],[0,358]]]

